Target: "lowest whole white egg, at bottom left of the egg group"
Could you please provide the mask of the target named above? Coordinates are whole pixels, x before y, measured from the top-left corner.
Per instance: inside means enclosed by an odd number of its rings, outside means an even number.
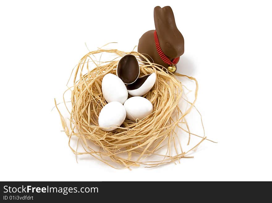
[[[112,131],[125,121],[125,107],[120,102],[110,102],[100,111],[98,124],[105,131]]]

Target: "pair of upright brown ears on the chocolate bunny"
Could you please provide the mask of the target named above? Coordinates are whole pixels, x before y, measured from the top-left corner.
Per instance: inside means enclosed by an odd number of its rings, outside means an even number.
[[[154,22],[156,30],[177,29],[174,13],[170,6],[156,6],[154,8]]]

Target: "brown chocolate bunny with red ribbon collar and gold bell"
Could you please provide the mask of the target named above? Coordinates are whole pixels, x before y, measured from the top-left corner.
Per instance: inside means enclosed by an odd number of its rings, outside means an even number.
[[[154,8],[155,29],[147,31],[139,39],[138,52],[149,61],[176,72],[176,63],[184,53],[184,38],[176,27],[175,17],[170,6]],[[141,57],[143,61],[144,58]]]

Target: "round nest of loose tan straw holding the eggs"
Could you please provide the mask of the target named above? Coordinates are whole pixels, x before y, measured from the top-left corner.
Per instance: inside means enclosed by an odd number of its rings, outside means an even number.
[[[112,61],[95,61],[93,56],[101,53],[116,54]],[[106,132],[98,126],[100,110],[107,104],[101,90],[102,78],[105,74],[116,74],[118,60],[125,54],[135,55],[140,64],[140,76],[156,73],[157,80],[154,87],[143,97],[146,97],[153,104],[151,115],[140,121],[125,120],[116,130]],[[183,86],[172,73],[162,70],[162,66],[140,60],[138,52],[123,52],[116,49],[98,49],[87,53],[75,67],[73,86],[66,91],[71,91],[71,109],[66,105],[70,118],[66,121],[60,110],[57,108],[63,129],[69,137],[77,138],[84,149],[78,151],[70,146],[74,154],[90,154],[100,161],[114,168],[130,168],[131,166],[145,165],[154,167],[165,163],[175,162],[187,156],[188,152],[195,150],[198,145],[206,139],[205,136],[198,136],[190,133],[185,116],[192,110],[198,92],[198,82],[195,78],[175,73],[193,80],[196,84],[194,100],[188,102],[188,108],[182,112],[179,101],[182,97]],[[145,59],[145,56],[141,55]],[[91,64],[94,67],[91,69]],[[85,71],[85,73],[84,73]],[[64,98],[64,97],[63,97]],[[184,98],[183,98],[184,99]],[[55,105],[57,103],[55,100]],[[184,127],[185,126],[185,127]],[[181,146],[177,129],[200,137],[200,141],[184,151]],[[89,142],[91,141],[91,142]],[[171,149],[172,148],[172,149]],[[163,151],[163,152],[162,152]],[[171,153],[170,153],[171,152]]]

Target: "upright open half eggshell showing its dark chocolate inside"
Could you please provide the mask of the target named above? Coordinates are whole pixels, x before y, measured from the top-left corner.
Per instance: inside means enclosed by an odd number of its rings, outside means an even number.
[[[137,58],[132,54],[122,57],[118,62],[116,73],[125,84],[135,82],[140,74],[140,66]]]

